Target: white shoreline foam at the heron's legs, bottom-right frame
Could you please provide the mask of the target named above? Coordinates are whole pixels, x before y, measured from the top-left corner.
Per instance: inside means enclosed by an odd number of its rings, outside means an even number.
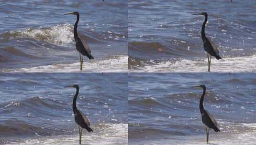
[[[233,123],[222,123],[223,125],[235,125]],[[240,132],[221,132],[215,133],[210,130],[208,145],[256,145],[256,124],[236,124],[236,127],[246,127]],[[129,140],[130,142],[130,140]],[[206,135],[193,136],[170,136],[169,138],[150,140],[145,139],[141,142],[133,142],[132,145],[207,145]]]

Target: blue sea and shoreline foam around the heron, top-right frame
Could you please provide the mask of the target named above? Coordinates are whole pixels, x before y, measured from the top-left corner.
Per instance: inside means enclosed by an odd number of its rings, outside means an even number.
[[[206,72],[199,12],[208,13],[206,36],[223,58],[211,71],[256,71],[256,0],[129,0],[128,11],[133,72]]]

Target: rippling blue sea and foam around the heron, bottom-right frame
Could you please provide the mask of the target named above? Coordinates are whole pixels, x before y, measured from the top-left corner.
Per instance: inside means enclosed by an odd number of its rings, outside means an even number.
[[[216,145],[255,145],[256,77],[254,73],[130,73],[130,145],[205,145],[199,101],[221,132],[210,130]]]

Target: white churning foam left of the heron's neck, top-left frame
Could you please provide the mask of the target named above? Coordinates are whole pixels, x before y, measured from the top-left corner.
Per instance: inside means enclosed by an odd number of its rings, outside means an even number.
[[[19,31],[20,37],[29,37],[37,40],[44,40],[56,45],[68,45],[74,41],[73,30],[71,24],[58,24],[53,27],[40,29],[27,29]]]

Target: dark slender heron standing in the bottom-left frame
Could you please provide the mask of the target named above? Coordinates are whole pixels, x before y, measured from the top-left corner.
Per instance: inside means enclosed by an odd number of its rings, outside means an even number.
[[[77,92],[73,99],[73,112],[75,115],[75,122],[78,124],[79,130],[79,144],[82,142],[82,128],[86,129],[88,132],[93,132],[90,128],[90,121],[89,118],[84,115],[78,108],[77,108],[77,97],[79,93],[79,86],[77,84],[66,86],[66,88],[76,88]]]

